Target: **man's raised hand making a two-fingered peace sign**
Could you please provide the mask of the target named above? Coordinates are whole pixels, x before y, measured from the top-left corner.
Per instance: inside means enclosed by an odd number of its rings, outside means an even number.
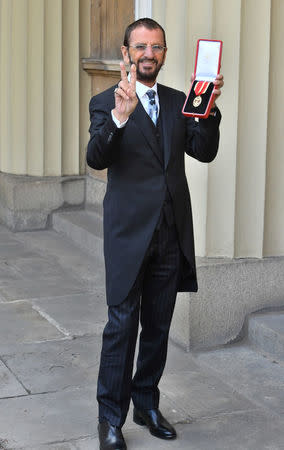
[[[114,90],[115,108],[113,114],[120,123],[125,122],[135,110],[138,99],[136,96],[136,66],[130,67],[130,81],[128,81],[125,65],[120,63],[121,81]]]

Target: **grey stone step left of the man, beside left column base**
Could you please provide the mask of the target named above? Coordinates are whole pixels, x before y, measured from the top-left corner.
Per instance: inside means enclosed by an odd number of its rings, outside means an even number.
[[[103,260],[103,219],[100,214],[89,210],[56,212],[52,215],[52,227],[90,255]]]

